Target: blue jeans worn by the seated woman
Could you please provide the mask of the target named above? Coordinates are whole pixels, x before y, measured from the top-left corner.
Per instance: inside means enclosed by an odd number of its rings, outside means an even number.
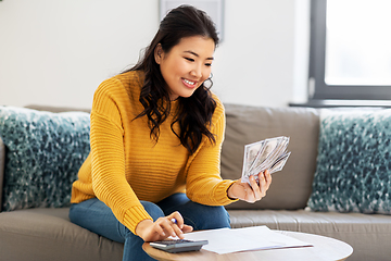
[[[192,202],[185,194],[174,194],[157,203],[141,201],[155,221],[179,211],[185,224],[194,231],[230,227],[229,215],[224,207]],[[123,261],[154,260],[143,250],[143,240],[118,222],[112,210],[97,198],[72,204],[70,219],[73,223],[117,243],[124,243]]]

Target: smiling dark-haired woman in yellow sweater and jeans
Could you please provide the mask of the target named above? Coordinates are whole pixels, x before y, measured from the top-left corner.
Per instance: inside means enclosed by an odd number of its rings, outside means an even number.
[[[210,17],[181,5],[139,63],[94,94],[91,152],[73,185],[70,217],[125,243],[123,260],[148,260],[144,241],[229,227],[223,206],[260,200],[270,185],[268,171],[260,185],[219,175],[224,107],[205,86],[217,44]]]

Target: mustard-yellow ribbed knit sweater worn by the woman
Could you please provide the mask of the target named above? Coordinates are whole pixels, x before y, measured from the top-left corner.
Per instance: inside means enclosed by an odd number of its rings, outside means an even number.
[[[143,107],[139,102],[143,74],[128,72],[104,80],[97,89],[91,110],[91,152],[73,184],[71,202],[97,197],[116,219],[135,233],[137,224],[151,216],[139,200],[159,202],[185,191],[194,202],[224,206],[232,202],[227,189],[232,181],[219,175],[225,113],[216,96],[211,132],[216,144],[203,138],[189,156],[172,132],[177,101],[160,126],[159,141],[150,138],[147,116],[134,120]],[[174,129],[179,133],[178,125]],[[152,219],[151,219],[152,220]]]

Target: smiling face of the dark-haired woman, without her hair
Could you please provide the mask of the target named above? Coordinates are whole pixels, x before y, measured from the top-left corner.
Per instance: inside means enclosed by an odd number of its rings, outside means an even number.
[[[210,77],[215,44],[211,38],[182,38],[169,52],[155,48],[155,61],[168,86],[169,98],[190,97]]]

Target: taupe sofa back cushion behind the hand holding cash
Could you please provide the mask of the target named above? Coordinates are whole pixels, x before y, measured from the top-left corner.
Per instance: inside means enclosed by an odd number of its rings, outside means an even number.
[[[225,104],[226,138],[222,149],[223,178],[241,178],[244,145],[277,136],[290,137],[291,156],[273,174],[265,198],[237,201],[227,209],[303,209],[311,195],[319,133],[318,112],[310,108],[262,108]]]

